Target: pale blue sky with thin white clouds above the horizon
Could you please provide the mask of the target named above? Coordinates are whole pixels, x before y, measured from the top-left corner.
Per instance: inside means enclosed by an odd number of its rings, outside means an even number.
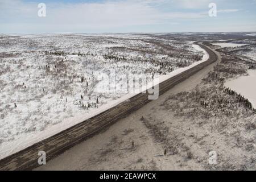
[[[255,10],[256,0],[0,0],[0,33],[256,31]]]

